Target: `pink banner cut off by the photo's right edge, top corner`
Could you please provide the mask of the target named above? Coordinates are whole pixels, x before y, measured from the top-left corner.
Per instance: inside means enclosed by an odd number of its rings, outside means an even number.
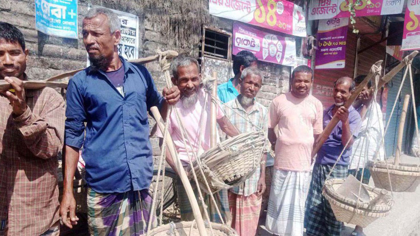
[[[408,0],[405,10],[401,50],[420,49],[420,0]]]

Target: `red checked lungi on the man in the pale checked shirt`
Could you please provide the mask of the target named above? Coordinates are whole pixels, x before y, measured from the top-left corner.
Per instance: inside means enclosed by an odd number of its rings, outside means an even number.
[[[249,196],[228,191],[232,228],[240,236],[255,236],[260,219],[261,199],[256,193]]]

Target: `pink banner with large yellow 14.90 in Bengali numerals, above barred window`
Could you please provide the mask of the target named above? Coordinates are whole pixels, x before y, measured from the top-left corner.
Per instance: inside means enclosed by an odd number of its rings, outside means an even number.
[[[302,8],[285,0],[209,0],[209,11],[213,16],[306,37]]]

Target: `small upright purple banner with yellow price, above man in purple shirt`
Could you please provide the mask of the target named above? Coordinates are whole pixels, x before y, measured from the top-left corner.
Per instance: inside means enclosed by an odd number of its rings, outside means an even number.
[[[320,20],[315,69],[339,69],[346,65],[346,39],[349,18]]]

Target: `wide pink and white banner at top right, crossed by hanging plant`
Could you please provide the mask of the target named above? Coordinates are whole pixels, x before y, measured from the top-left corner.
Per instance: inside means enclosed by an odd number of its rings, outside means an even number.
[[[409,0],[410,1],[410,0]],[[349,4],[356,0],[311,0],[309,20],[349,17]],[[379,16],[402,13],[404,0],[361,0],[355,7],[356,16]]]

